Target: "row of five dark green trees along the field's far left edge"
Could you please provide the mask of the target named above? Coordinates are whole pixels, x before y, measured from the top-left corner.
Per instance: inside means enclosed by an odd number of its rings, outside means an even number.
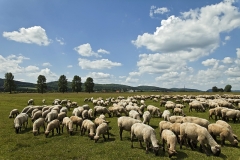
[[[37,79],[37,92],[44,93],[47,92],[47,79],[44,75],[39,75]],[[59,92],[67,92],[68,91],[68,81],[65,75],[61,75],[58,79],[58,91]],[[82,91],[82,80],[81,77],[75,75],[72,80],[72,91],[73,92],[81,92]],[[16,90],[17,86],[14,82],[14,75],[11,72],[5,73],[4,85],[3,88],[5,91],[12,93],[12,91]],[[94,82],[91,77],[88,77],[84,82],[85,92],[93,92]]]

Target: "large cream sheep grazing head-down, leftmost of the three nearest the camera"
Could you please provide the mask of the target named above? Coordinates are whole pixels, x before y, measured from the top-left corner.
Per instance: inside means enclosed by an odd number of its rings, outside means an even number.
[[[159,152],[159,143],[156,137],[155,130],[146,124],[143,123],[135,123],[131,127],[131,148],[133,148],[133,138],[134,136],[137,137],[138,141],[140,142],[140,146],[142,146],[142,141],[146,144],[146,153],[148,153],[148,150],[150,148],[150,145],[152,144],[152,149],[155,155],[158,155]]]

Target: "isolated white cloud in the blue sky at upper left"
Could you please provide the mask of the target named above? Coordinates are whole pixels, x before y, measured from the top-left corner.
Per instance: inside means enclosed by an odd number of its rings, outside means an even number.
[[[3,32],[3,37],[16,42],[35,43],[40,46],[50,44],[45,30],[41,26],[20,28],[19,31],[13,32]]]

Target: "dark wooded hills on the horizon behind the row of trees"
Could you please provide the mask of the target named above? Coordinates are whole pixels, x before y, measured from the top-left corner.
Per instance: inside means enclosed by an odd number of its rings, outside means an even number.
[[[4,79],[0,78],[0,90],[3,91]],[[20,82],[15,81],[17,85],[17,91],[32,91],[36,92],[37,85],[35,83],[29,82]],[[68,91],[71,92],[72,82],[68,82]],[[48,91],[54,92],[58,91],[58,81],[48,82],[47,83]],[[84,90],[84,85],[82,85]],[[137,86],[132,87],[128,85],[122,84],[94,84],[94,91],[97,92],[127,92],[127,91],[151,91],[151,92],[202,92],[197,89],[189,89],[189,88],[161,88],[156,86]]]

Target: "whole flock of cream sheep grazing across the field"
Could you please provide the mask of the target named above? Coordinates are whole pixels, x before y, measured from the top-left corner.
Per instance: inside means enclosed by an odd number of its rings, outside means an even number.
[[[159,101],[160,107],[146,105],[147,99]],[[84,102],[93,103],[93,108],[90,108],[88,104],[79,106],[77,102],[66,99],[55,99],[52,105],[45,105],[45,99],[42,102],[43,105],[36,106],[34,100],[30,99],[28,106],[21,112],[18,109],[11,110],[9,118],[14,118],[16,133],[19,133],[22,127],[26,128],[28,119],[31,118],[34,135],[40,133],[40,127],[44,128],[46,137],[50,132],[54,135],[54,130],[58,134],[63,133],[63,128],[66,128],[67,132],[72,135],[73,125],[76,125],[76,131],[79,126],[81,135],[87,131],[88,136],[97,142],[101,135],[104,140],[105,135],[109,139],[111,127],[105,117],[107,114],[108,117],[118,117],[120,140],[122,140],[123,131],[130,132],[131,147],[133,148],[134,139],[137,138],[141,147],[143,147],[142,141],[145,143],[146,153],[152,150],[155,155],[158,155],[160,149],[165,151],[165,144],[167,144],[168,155],[172,157],[177,155],[177,144],[180,145],[180,149],[182,145],[194,149],[197,143],[200,143],[200,149],[207,155],[210,155],[209,150],[211,150],[213,155],[219,156],[221,145],[225,144],[225,140],[229,141],[232,146],[238,146],[237,136],[228,123],[229,120],[235,123],[240,119],[238,110],[240,97],[237,95],[137,95],[127,98],[118,96],[116,99],[112,97],[84,99]],[[216,123],[210,124],[207,119],[186,116],[183,111],[186,104],[189,106],[189,112],[193,109],[196,112],[209,110],[209,119],[215,116]],[[161,109],[161,106],[165,109]],[[68,117],[67,113],[71,109],[72,116]],[[159,119],[162,145],[157,139],[154,128],[150,125],[151,118],[162,118]],[[221,145],[216,142],[218,136],[221,139]]]

